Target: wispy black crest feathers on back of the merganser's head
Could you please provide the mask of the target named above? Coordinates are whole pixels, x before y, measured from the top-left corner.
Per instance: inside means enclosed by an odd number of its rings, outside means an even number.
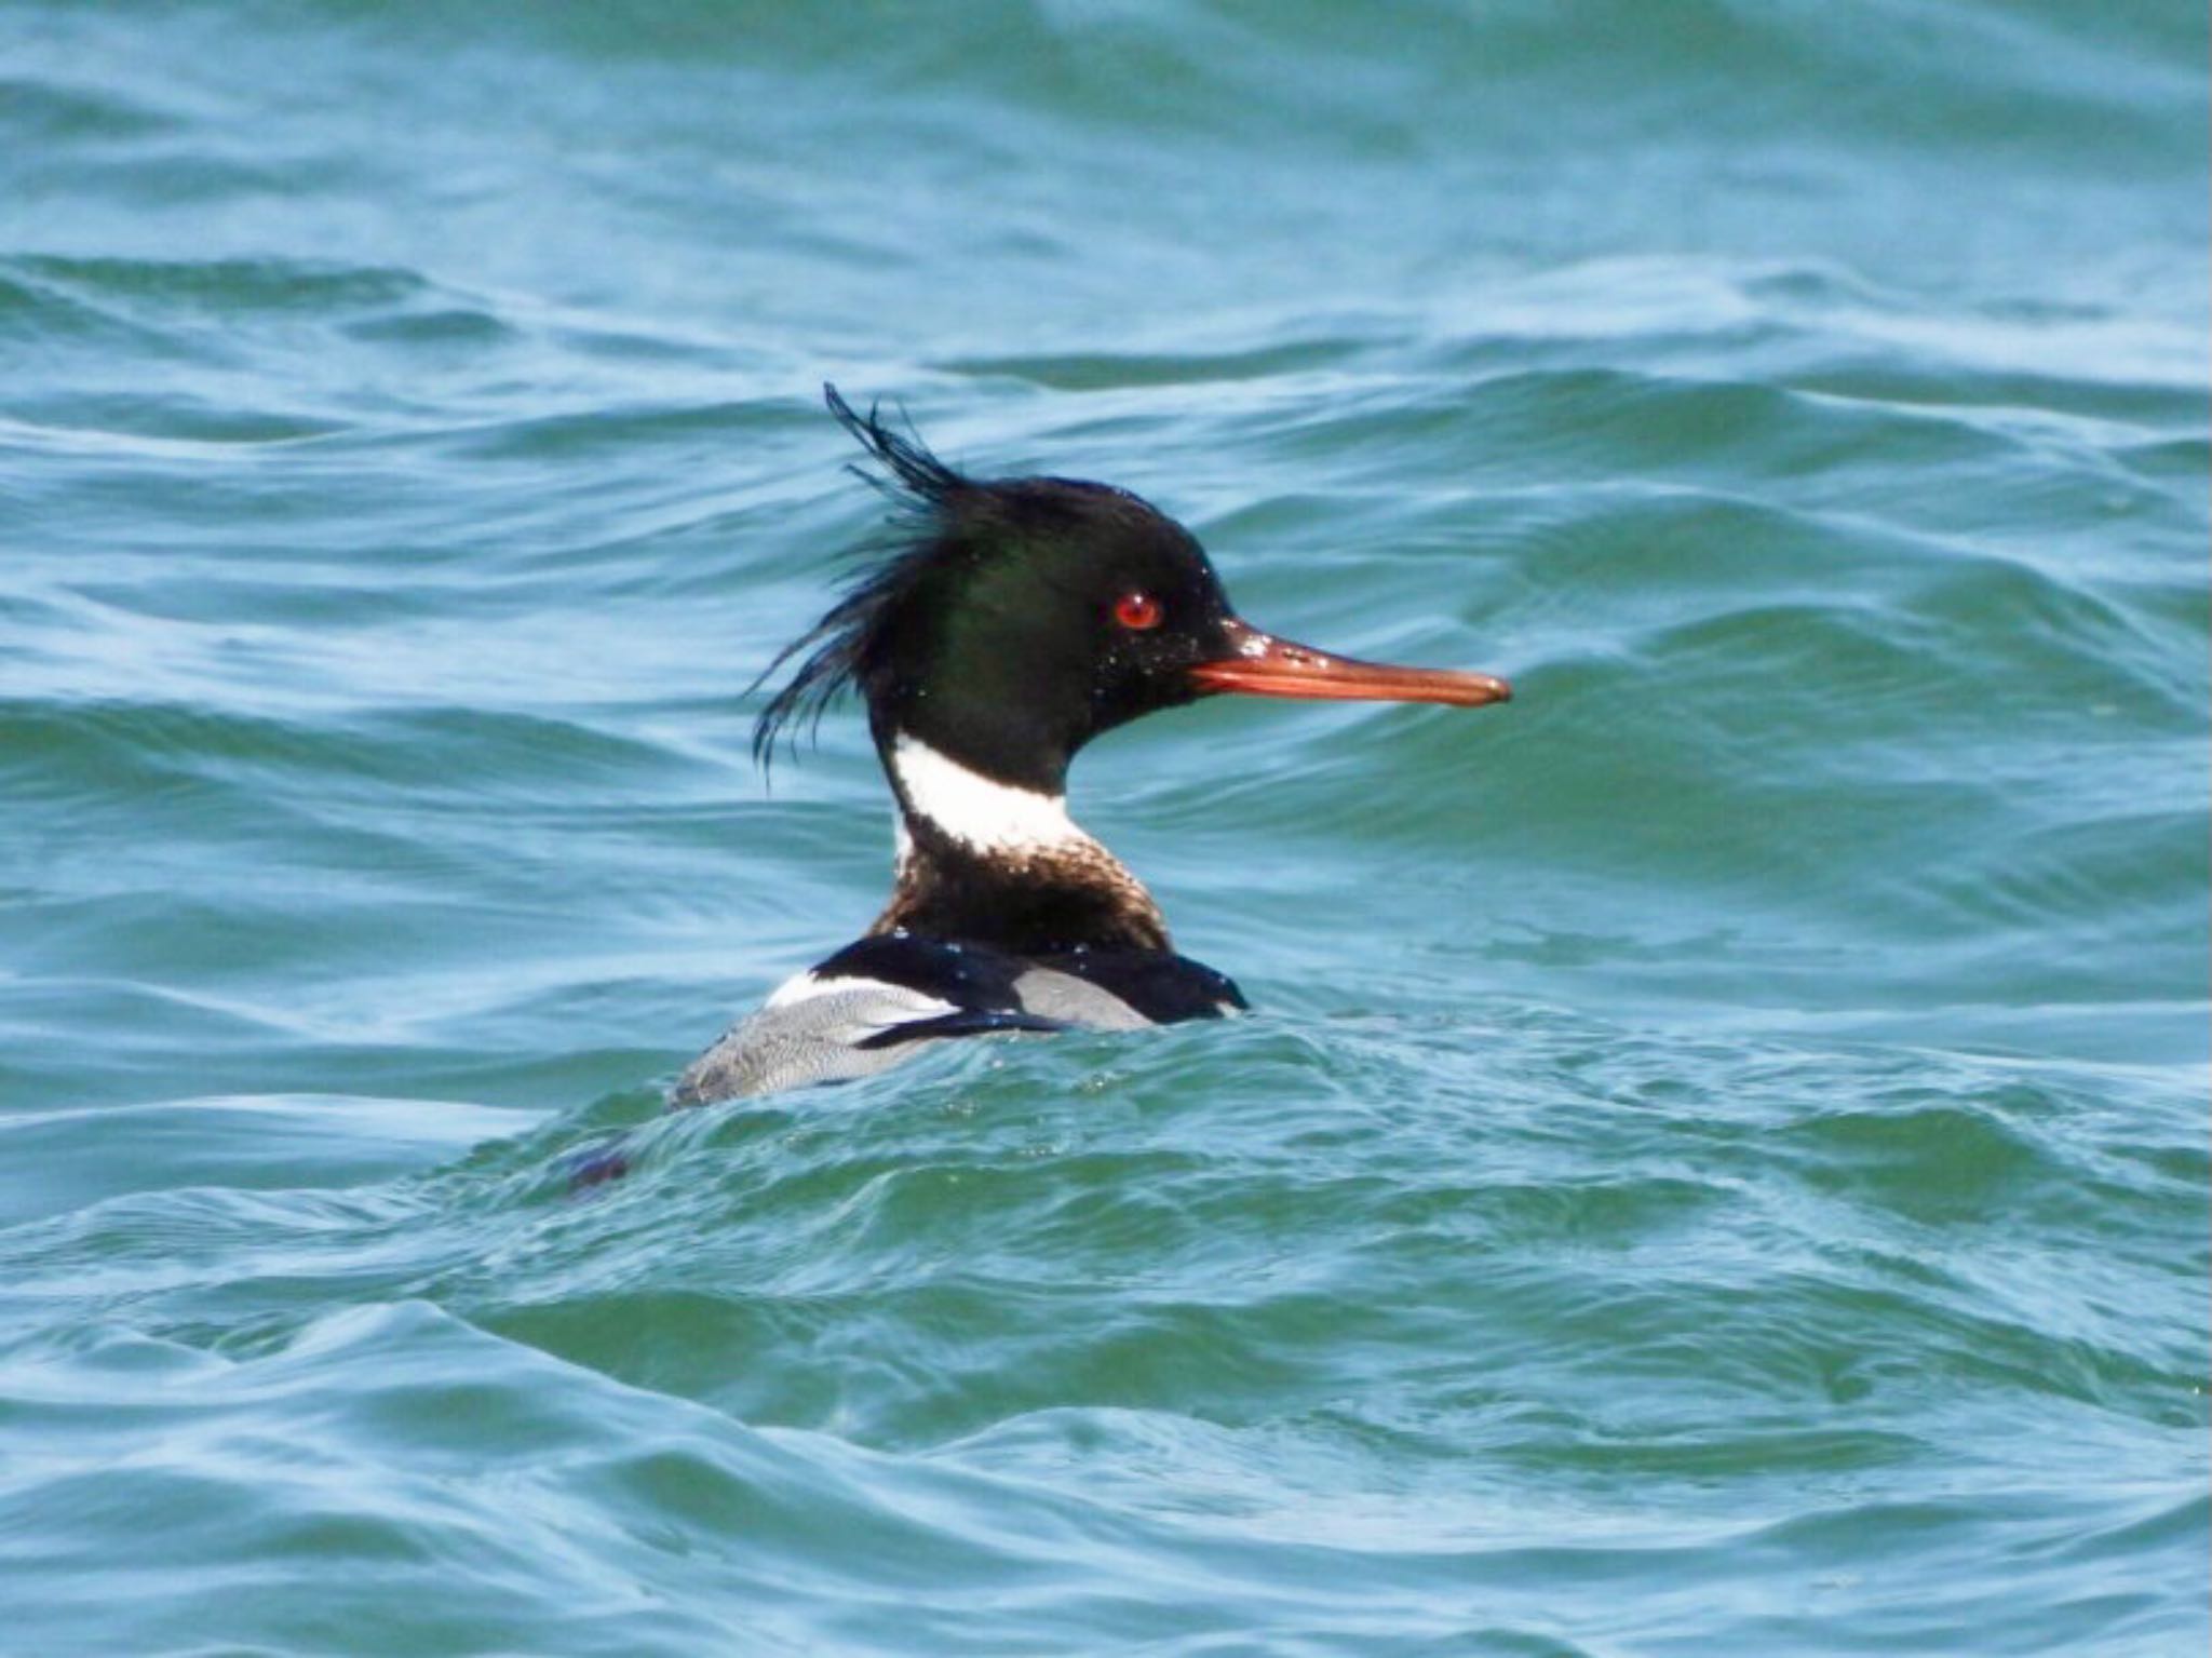
[[[973,489],[967,478],[929,453],[920,433],[914,431],[914,422],[907,422],[907,431],[894,431],[883,420],[878,405],[872,402],[863,416],[830,382],[823,382],[823,402],[830,405],[836,422],[858,438],[860,447],[885,469],[874,473],[854,466],[852,471],[889,495],[898,513],[891,517],[891,535],[880,555],[856,570],[823,619],[779,650],[768,670],[752,681],[750,690],[759,690],[783,670],[783,663],[805,652],[799,670],[783,690],[768,699],[768,707],[761,710],[761,718],[752,727],[752,758],[763,769],[770,765],[776,738],[785,727],[805,723],[812,730],[836,694],[854,683],[878,619],[911,590],[929,566],[945,513],[958,495]],[[794,752],[796,745],[794,734]]]

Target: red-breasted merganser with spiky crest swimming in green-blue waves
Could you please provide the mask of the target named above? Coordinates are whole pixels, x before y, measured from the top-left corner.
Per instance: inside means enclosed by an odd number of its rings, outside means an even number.
[[[1265,634],[1230,610],[1197,537],[1128,491],[964,478],[823,393],[887,471],[869,482],[900,504],[900,533],[761,676],[805,652],[752,747],[768,760],[792,721],[860,694],[898,802],[891,902],[701,1054],[679,1105],[863,1077],[929,1041],[1243,1008],[1225,975],[1175,953],[1144,882],[1068,818],[1075,752],[1219,692],[1458,707],[1511,694],[1489,674]]]

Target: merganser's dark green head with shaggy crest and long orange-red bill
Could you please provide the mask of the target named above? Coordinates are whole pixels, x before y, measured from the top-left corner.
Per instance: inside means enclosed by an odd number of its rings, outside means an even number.
[[[898,736],[998,783],[1060,794],[1099,732],[1214,692],[1486,703],[1484,674],[1374,668],[1245,626],[1197,537],[1106,484],[973,480],[823,387],[887,480],[898,537],[770,665],[807,652],[754,727],[754,754],[845,685],[876,745]],[[765,674],[763,674],[765,679]]]

